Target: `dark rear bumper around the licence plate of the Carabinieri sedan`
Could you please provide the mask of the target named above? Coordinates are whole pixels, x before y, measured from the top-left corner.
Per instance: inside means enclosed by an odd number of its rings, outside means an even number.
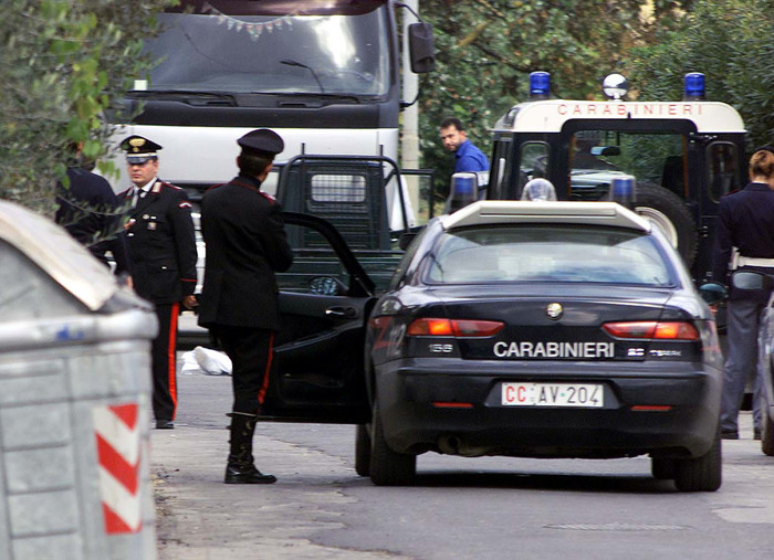
[[[626,364],[623,371],[620,363],[492,362],[490,368],[477,362],[477,370],[470,371],[462,360],[442,362],[442,369],[428,368],[420,360],[377,368],[385,437],[395,451],[695,457],[709,451],[718,430],[722,374],[702,364],[636,363]],[[503,381],[602,383],[605,406],[504,406],[500,397]],[[468,403],[469,408],[449,403]]]

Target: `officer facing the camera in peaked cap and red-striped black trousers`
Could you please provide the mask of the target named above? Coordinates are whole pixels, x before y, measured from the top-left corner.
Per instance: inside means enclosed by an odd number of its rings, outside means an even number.
[[[196,307],[196,239],[191,203],[179,187],[158,179],[161,146],[129,136],[121,147],[134,187],[121,197],[130,204],[126,240],[134,288],[156,306],[159,332],[153,341],[153,408],[157,429],[172,429],[177,408],[177,319],[180,305]]]

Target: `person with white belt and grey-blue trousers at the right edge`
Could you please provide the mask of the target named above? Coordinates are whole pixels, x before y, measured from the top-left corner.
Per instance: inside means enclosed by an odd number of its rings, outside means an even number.
[[[747,186],[720,201],[712,260],[712,275],[720,283],[731,284],[730,274],[739,268],[774,275],[774,152],[764,147],[753,154]],[[761,439],[757,332],[768,295],[767,290],[730,288],[720,412],[721,436],[725,440],[739,439],[739,409],[750,376],[755,379],[753,436]]]

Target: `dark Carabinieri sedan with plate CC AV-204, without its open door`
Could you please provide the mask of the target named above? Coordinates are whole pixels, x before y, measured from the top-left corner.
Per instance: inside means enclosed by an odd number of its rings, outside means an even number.
[[[368,320],[376,484],[418,454],[649,454],[721,484],[722,358],[677,252],[615,203],[478,202],[430,222]],[[365,432],[365,433],[364,433]]]

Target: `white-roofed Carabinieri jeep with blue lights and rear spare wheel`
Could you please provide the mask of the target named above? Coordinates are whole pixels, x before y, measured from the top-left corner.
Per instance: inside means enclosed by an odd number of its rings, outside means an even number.
[[[558,200],[609,200],[616,179],[634,177],[631,205],[660,226],[697,282],[710,278],[720,198],[746,182],[739,113],[708,102],[703,75],[684,76],[681,101],[625,101],[628,83],[605,78],[608,101],[551,98],[550,75],[531,74],[531,98],[493,129],[487,199],[520,199],[533,178]]]

